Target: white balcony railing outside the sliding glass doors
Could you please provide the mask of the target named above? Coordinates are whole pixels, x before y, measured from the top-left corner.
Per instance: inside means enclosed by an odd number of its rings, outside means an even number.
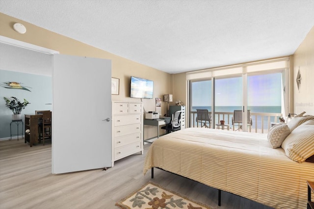
[[[201,124],[200,123],[198,124],[196,122],[196,116],[197,116],[197,112],[190,112],[190,127],[201,127]],[[211,112],[209,112],[209,117],[210,116],[211,116]],[[232,125],[233,116],[234,116],[233,112],[216,112],[214,124],[219,123],[218,121],[220,120],[224,120],[226,124],[230,125],[230,130],[233,130],[233,125]],[[251,132],[263,134],[263,133],[268,133],[269,129],[271,128],[272,123],[280,122],[278,117],[281,117],[282,114],[281,113],[252,113],[251,112],[250,116],[252,118]],[[210,127],[211,127],[211,124],[210,124]]]

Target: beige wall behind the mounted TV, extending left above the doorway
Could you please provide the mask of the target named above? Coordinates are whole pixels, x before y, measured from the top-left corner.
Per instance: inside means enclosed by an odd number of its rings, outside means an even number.
[[[14,23],[24,24],[27,29],[26,33],[15,32],[13,30]],[[154,99],[143,99],[146,111],[155,111],[155,97],[162,98],[163,94],[172,93],[169,92],[171,89],[171,75],[169,73],[141,65],[2,13],[0,13],[0,35],[50,48],[59,51],[60,54],[110,59],[112,61],[112,77],[120,79],[120,93],[119,95],[112,95],[113,101],[140,101],[140,99],[130,98],[131,75],[154,81]],[[166,103],[162,102],[162,114],[165,113]],[[154,136],[157,136],[156,128],[145,126],[144,139]]]

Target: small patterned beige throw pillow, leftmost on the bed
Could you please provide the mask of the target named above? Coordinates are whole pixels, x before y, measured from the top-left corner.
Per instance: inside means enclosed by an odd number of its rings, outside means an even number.
[[[271,127],[268,132],[267,139],[273,149],[281,146],[282,142],[290,134],[290,129],[287,124],[279,123]]]

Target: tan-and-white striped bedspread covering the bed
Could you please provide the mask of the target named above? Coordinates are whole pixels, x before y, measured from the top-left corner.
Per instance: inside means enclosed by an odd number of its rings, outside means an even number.
[[[267,134],[207,128],[157,139],[144,175],[152,167],[278,209],[306,209],[306,181],[314,181],[314,163],[297,163],[282,148],[272,149]]]

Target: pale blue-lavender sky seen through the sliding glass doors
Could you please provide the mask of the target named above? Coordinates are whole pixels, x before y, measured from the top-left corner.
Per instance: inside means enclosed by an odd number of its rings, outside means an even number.
[[[242,77],[216,79],[216,106],[242,106]],[[248,76],[248,106],[281,106],[281,73]],[[211,81],[192,83],[192,105],[210,106]]]

